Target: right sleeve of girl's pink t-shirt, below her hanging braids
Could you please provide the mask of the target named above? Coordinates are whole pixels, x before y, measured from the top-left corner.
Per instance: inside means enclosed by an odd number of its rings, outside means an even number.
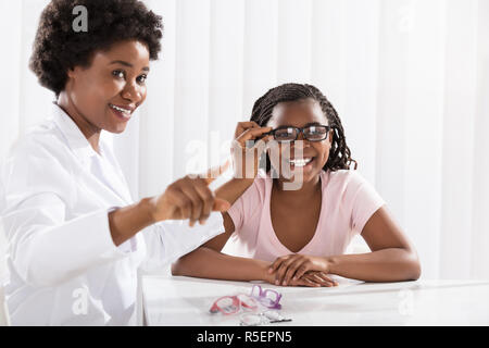
[[[351,228],[353,235],[361,234],[367,221],[386,202],[374,186],[356,172],[351,172],[349,191],[352,200]]]

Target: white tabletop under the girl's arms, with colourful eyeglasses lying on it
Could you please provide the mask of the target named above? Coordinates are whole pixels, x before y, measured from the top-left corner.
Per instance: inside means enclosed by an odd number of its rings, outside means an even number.
[[[489,281],[362,283],[335,277],[338,287],[261,284],[283,294],[280,325],[489,325]],[[147,325],[235,326],[239,315],[212,314],[221,296],[249,294],[252,283],[184,276],[143,276]],[[277,325],[277,324],[273,324]]]

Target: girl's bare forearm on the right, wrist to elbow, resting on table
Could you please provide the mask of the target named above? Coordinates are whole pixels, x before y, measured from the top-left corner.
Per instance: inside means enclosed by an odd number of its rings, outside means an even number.
[[[329,273],[365,282],[415,281],[421,275],[415,252],[389,248],[328,258]]]

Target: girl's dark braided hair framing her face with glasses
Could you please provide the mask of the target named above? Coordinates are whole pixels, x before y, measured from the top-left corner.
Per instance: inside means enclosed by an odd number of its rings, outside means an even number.
[[[269,89],[254,102],[251,121],[256,122],[261,127],[265,127],[272,119],[275,105],[280,102],[299,101],[308,98],[312,98],[319,103],[329,126],[334,130],[329,158],[323,170],[330,170],[331,172],[350,170],[351,163],[354,163],[354,169],[356,170],[358,163],[351,158],[350,148],[347,146],[347,138],[338,113],[321,90],[312,85],[285,84]],[[271,163],[268,156],[266,156],[266,171],[268,172],[269,170]]]

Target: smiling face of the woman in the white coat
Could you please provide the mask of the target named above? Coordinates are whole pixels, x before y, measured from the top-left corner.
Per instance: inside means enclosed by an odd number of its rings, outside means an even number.
[[[65,91],[77,113],[99,129],[124,132],[146,99],[149,59],[145,44],[121,41],[95,52],[89,67],[68,71]]]

